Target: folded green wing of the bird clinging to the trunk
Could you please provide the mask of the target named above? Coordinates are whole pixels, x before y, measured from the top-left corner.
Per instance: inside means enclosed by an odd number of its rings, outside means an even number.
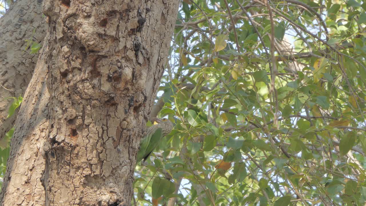
[[[158,132],[158,130],[160,132]],[[147,154],[150,154],[151,151],[148,151],[151,140],[153,138],[156,138],[155,136],[160,135],[161,136],[161,129],[158,128],[158,126],[153,125],[149,127],[146,131],[145,136],[140,141],[140,150],[137,152],[137,158],[136,161],[141,161],[144,157],[146,157]]]

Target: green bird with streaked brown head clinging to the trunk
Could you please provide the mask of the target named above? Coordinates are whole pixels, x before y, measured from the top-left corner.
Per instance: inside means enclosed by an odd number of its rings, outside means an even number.
[[[158,124],[147,128],[145,135],[140,141],[140,149],[137,152],[136,163],[142,161],[144,163],[150,154],[155,150],[156,146],[161,141],[161,138],[168,135],[172,129],[173,124],[167,118],[159,119],[152,118],[152,122],[155,121]]]

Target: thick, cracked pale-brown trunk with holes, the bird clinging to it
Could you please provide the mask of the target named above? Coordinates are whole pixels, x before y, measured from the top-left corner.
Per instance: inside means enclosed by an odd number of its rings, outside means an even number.
[[[130,205],[178,0],[44,1],[1,205]]]

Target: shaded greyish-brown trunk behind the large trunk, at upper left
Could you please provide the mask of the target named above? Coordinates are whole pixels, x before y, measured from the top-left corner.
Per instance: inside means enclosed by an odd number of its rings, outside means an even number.
[[[40,43],[45,28],[40,0],[15,1],[0,19],[0,140],[14,126],[18,114],[7,118],[13,101],[7,98],[24,95],[37,63],[38,53],[24,51],[25,40]]]

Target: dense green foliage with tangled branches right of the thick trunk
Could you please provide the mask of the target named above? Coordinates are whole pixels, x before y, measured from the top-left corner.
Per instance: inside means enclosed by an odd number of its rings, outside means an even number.
[[[365,10],[183,0],[156,105],[175,129],[132,205],[363,205]]]

